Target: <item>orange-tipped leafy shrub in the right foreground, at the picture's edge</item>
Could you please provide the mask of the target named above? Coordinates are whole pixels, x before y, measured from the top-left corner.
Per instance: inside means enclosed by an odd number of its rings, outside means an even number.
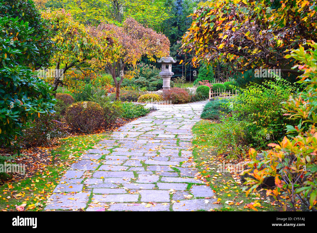
[[[300,118],[300,121],[296,119],[297,123],[287,125],[289,137],[285,136],[278,144],[272,143],[272,149],[257,154],[255,149],[250,148],[249,169],[244,171],[249,173],[245,183],[248,186],[244,189],[247,195],[260,187],[265,179],[274,177],[275,186],[268,187],[266,195],[284,202],[284,211],[317,210],[317,44],[311,41],[307,47],[307,50],[303,47],[292,50],[285,56],[303,66],[304,74],[298,77],[298,84],[305,89],[290,95],[283,103],[283,113],[291,118]],[[293,68],[298,67],[297,62],[295,64]],[[303,125],[304,122],[307,124]]]

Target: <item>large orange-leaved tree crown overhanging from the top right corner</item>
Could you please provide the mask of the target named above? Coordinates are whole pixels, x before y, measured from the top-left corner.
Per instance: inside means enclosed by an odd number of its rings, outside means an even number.
[[[254,66],[291,69],[294,59],[288,49],[316,40],[315,1],[220,0],[204,3],[192,15],[191,28],[183,37],[182,49],[193,55],[195,66],[220,62],[233,71]]]

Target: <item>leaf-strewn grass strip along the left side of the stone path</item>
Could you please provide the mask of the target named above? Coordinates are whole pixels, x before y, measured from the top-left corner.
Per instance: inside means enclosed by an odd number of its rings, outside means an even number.
[[[92,134],[61,139],[61,146],[53,148],[53,165],[43,167],[33,177],[20,180],[19,182],[6,183],[0,187],[0,210],[16,211],[16,205],[23,205],[25,210],[39,211],[45,207],[45,201],[63,173],[81,154],[108,134]]]

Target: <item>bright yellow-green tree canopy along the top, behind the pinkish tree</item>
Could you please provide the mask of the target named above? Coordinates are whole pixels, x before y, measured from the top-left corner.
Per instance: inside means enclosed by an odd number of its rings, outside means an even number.
[[[166,0],[52,0],[46,6],[63,8],[83,24],[98,25],[101,21],[121,25],[132,17],[139,23],[160,30],[169,17]]]

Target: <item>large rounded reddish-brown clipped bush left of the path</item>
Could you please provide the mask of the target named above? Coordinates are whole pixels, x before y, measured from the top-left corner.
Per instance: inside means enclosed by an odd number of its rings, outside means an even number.
[[[91,133],[102,125],[104,111],[99,104],[94,102],[76,102],[67,108],[65,120],[72,129]]]

